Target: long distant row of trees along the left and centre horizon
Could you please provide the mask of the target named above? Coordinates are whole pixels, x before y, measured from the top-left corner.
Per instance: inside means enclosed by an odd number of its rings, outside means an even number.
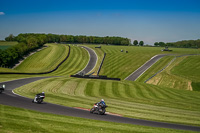
[[[5,38],[6,41],[26,42],[27,37],[39,36],[39,41],[48,43],[91,43],[91,44],[111,44],[111,45],[130,45],[131,40],[123,37],[98,37],[98,36],[73,36],[73,35],[57,35],[57,34],[12,34]]]

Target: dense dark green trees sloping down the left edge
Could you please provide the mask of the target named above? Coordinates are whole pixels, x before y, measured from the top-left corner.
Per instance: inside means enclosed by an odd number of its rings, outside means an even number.
[[[0,66],[14,66],[20,59],[23,58],[24,55],[27,55],[31,51],[42,47],[46,43],[44,39],[45,35],[42,34],[20,34],[16,37],[9,35],[5,40],[18,41],[18,44],[5,50],[0,49]]]

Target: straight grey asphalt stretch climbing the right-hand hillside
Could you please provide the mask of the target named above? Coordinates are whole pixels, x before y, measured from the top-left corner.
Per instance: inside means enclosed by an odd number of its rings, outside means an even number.
[[[134,71],[131,75],[125,78],[125,80],[135,81],[140,77],[147,69],[149,69],[154,63],[156,63],[160,58],[166,56],[166,54],[156,55],[147,61],[144,65]]]

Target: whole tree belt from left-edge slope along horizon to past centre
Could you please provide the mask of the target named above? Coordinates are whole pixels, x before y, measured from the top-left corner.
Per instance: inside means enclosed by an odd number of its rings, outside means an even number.
[[[97,36],[73,36],[57,34],[34,34],[25,33],[14,36],[10,34],[5,38],[6,41],[17,41],[18,44],[8,49],[0,50],[0,66],[12,67],[24,55],[42,47],[45,43],[88,43],[88,44],[111,44],[111,45],[130,45],[131,41],[123,37],[97,37]]]

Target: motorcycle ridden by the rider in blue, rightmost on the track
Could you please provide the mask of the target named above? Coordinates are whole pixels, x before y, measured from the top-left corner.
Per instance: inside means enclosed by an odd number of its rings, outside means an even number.
[[[102,103],[95,103],[94,106],[90,109],[90,113],[104,115],[107,107],[107,105],[103,105]]]

